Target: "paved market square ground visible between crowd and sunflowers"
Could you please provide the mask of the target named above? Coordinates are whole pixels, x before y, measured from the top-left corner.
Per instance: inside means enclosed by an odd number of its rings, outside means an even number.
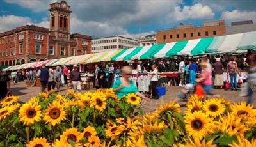
[[[66,93],[67,87],[61,87],[60,94],[64,95]],[[143,101],[142,108],[144,112],[154,111],[158,105],[163,104],[163,102],[169,102],[177,97],[177,94],[180,93],[180,90],[177,86],[168,86],[166,87],[166,95],[159,98],[159,100],[150,100],[149,102]],[[93,89],[92,89],[93,90]],[[13,95],[19,95],[20,100],[26,102],[29,98],[38,95],[40,92],[40,87],[27,87],[25,82],[19,82],[12,86]],[[83,91],[84,92],[84,91]],[[231,102],[240,102],[244,101],[246,97],[239,97],[240,91],[225,91],[223,89],[214,89],[212,93],[225,97]],[[256,106],[256,99],[254,100],[254,105]]]

